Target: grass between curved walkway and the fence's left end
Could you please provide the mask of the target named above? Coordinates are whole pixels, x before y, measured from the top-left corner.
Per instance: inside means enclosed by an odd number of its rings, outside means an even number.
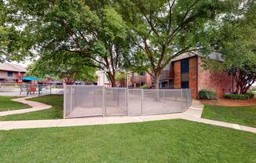
[[[31,98],[29,100],[46,103],[52,107],[46,110],[39,110],[24,114],[12,114],[0,117],[0,121],[19,121],[35,119],[60,119],[63,118],[63,96],[48,95]],[[1,162],[1,161],[0,161]]]

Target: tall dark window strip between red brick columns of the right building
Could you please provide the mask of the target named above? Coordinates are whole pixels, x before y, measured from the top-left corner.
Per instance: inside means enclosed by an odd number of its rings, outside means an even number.
[[[189,60],[181,60],[181,89],[189,88]]]

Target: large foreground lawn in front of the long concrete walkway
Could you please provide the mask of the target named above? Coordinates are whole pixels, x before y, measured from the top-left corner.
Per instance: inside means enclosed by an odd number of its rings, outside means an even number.
[[[185,120],[0,132],[0,162],[256,162],[256,134]]]

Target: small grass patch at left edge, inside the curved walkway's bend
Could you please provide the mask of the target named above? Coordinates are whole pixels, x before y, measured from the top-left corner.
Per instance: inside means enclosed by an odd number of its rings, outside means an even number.
[[[16,98],[19,98],[19,96],[0,96],[0,111],[26,109],[31,107],[24,103],[12,101],[12,99]]]

